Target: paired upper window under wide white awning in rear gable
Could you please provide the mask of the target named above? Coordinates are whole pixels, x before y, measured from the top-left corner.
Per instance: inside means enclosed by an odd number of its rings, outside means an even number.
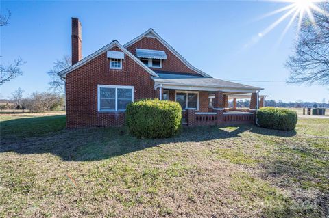
[[[162,68],[162,61],[167,59],[164,51],[150,49],[136,49],[136,56],[150,68]]]

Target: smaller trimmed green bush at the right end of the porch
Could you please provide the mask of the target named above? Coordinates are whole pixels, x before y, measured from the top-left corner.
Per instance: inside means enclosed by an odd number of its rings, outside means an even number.
[[[262,107],[257,111],[258,124],[264,128],[290,131],[297,124],[297,113],[289,109]]]

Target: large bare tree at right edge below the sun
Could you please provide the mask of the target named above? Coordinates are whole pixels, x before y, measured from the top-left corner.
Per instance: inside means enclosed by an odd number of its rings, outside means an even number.
[[[329,85],[329,3],[313,10],[314,23],[304,18],[295,52],[287,60],[288,83]]]

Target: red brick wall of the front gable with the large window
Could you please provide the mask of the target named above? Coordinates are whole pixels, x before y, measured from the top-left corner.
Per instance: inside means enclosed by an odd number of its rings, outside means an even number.
[[[111,49],[120,51],[117,47]],[[66,75],[66,127],[121,126],[123,112],[98,112],[97,85],[134,86],[134,100],[158,98],[151,75],[125,55],[122,70],[110,69],[106,53]]]

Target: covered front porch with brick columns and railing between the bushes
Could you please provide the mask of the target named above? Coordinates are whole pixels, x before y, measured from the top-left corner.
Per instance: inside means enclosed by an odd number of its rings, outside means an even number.
[[[198,85],[200,80],[213,78],[188,78],[175,79],[174,81],[192,81]],[[168,83],[169,79],[155,79],[162,83],[156,84],[160,100],[173,100],[180,103],[182,107],[183,124],[187,126],[227,126],[231,124],[254,124],[256,122],[256,111],[264,106],[265,96],[260,96],[258,87],[251,87],[234,83],[235,87],[223,87],[221,80],[215,79],[218,87],[211,83],[202,83],[204,86],[179,85]],[[173,82],[173,81],[171,81]],[[232,84],[225,81],[226,85]],[[227,84],[230,83],[230,84]],[[221,87],[219,87],[221,86]],[[239,109],[237,99],[249,98],[249,108]],[[232,100],[229,107],[229,100]]]

